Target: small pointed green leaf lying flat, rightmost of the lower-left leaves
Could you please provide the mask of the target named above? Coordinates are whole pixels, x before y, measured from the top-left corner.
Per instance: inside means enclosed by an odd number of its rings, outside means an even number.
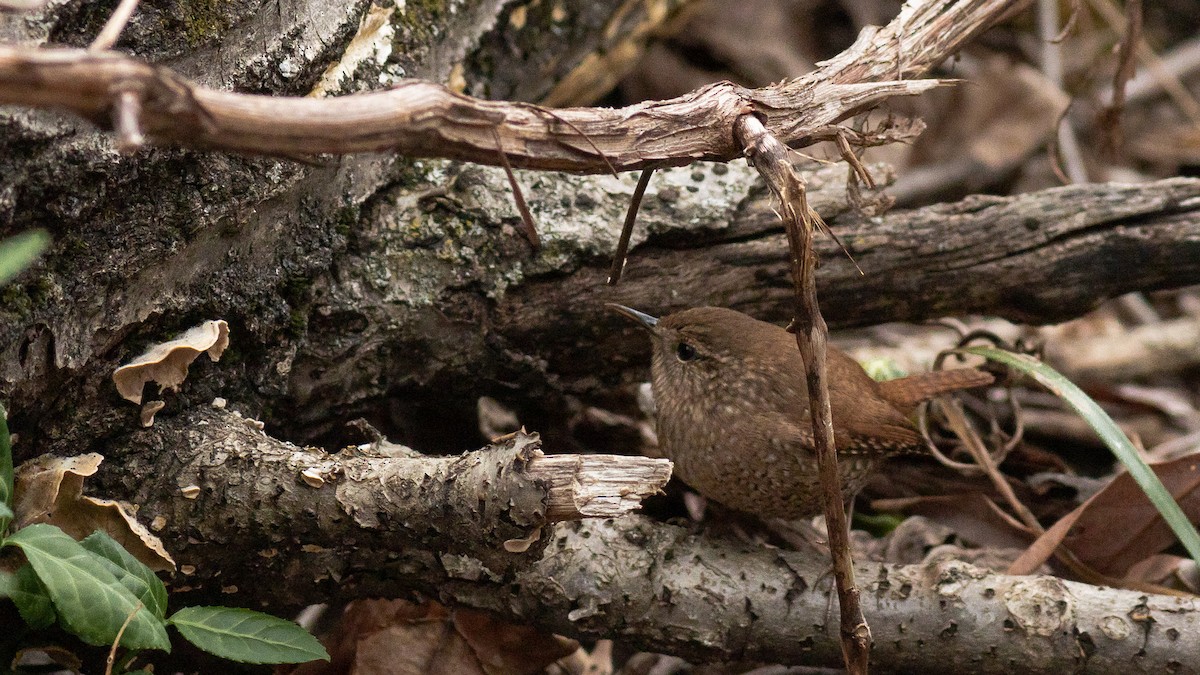
[[[242,663],[305,663],[325,647],[292,621],[232,607],[185,607],[167,620],[202,650]]]

